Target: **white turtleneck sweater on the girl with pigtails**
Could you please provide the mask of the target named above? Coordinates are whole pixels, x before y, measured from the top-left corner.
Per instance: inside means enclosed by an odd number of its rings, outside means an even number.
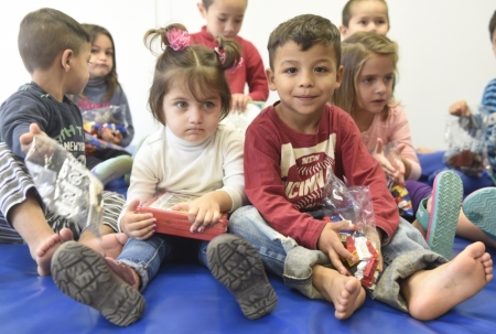
[[[162,127],[144,140],[134,158],[119,226],[132,200],[144,202],[163,191],[196,196],[224,191],[233,201],[230,212],[247,204],[242,154],[242,134],[224,126],[198,143]]]

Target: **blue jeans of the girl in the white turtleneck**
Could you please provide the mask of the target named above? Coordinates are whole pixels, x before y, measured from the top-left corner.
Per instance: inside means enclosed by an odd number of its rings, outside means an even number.
[[[182,247],[184,245],[186,247]],[[143,291],[159,272],[163,261],[182,259],[184,258],[184,254],[182,254],[184,251],[197,251],[200,262],[208,267],[207,246],[208,241],[154,234],[147,240],[129,238],[116,260],[136,270],[141,280],[140,290]]]

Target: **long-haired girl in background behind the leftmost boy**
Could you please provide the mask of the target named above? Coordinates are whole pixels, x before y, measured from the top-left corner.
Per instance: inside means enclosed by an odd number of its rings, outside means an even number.
[[[89,62],[89,80],[83,94],[74,96],[80,111],[109,106],[123,106],[126,132],[103,127],[98,138],[104,141],[127,147],[134,137],[131,111],[128,99],[117,78],[116,47],[111,34],[96,24],[82,24],[91,37],[91,60]],[[86,150],[86,166],[104,183],[108,183],[131,171],[132,158],[123,151],[105,148]]]

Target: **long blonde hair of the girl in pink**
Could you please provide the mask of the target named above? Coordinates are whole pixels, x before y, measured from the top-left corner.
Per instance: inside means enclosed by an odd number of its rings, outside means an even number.
[[[358,107],[357,80],[362,68],[375,55],[389,56],[393,66],[392,90],[398,76],[398,44],[385,35],[376,32],[357,32],[343,41],[341,47],[341,63],[344,66],[341,87],[334,91],[332,104],[338,106],[352,117]],[[384,118],[389,117],[390,104],[385,106]]]

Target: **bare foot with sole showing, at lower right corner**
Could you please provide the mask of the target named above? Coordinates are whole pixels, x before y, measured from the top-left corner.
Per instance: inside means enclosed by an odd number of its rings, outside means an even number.
[[[433,320],[472,298],[493,279],[493,260],[482,243],[468,245],[450,262],[400,282],[411,316]]]

